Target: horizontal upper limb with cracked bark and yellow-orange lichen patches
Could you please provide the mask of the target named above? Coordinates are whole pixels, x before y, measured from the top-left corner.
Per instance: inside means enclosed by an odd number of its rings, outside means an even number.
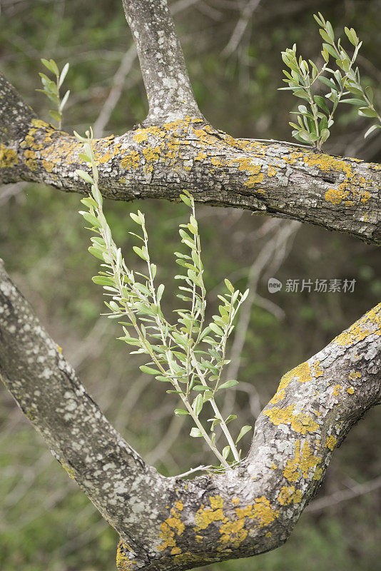
[[[167,198],[183,188],[215,206],[294,218],[381,243],[381,166],[316,154],[290,143],[235,139],[185,117],[94,141],[103,196]],[[3,146],[0,181],[36,181],[85,193],[81,143],[32,119],[16,146]]]

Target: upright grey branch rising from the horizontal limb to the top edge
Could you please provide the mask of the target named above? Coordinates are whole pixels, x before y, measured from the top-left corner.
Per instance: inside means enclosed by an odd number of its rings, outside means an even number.
[[[166,0],[123,0],[148,96],[145,124],[202,118]]]

